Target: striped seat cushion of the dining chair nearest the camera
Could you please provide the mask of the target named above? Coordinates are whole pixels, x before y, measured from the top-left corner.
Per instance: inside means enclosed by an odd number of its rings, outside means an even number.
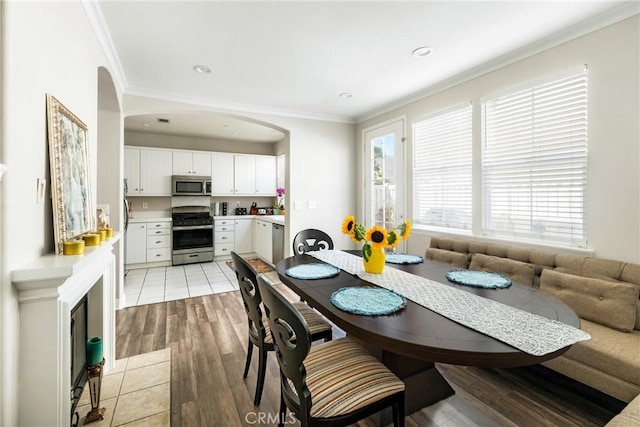
[[[312,346],[304,365],[313,418],[349,414],[404,390],[402,381],[348,337]]]

